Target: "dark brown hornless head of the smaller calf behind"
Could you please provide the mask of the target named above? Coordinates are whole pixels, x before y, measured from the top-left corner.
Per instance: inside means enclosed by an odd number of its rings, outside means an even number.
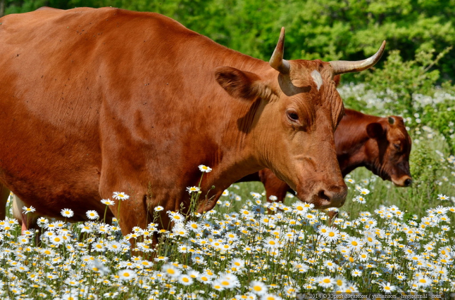
[[[366,167],[397,186],[411,185],[411,137],[406,131],[403,118],[392,116],[370,123],[366,127],[366,133],[370,138],[366,143],[366,155],[375,157],[372,164]]]

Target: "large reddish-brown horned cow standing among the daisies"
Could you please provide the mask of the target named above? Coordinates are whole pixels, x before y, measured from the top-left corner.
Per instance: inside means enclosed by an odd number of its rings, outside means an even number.
[[[0,23],[0,181],[37,214],[85,220],[123,190],[131,198],[111,216],[126,234],[158,204],[189,207],[199,164],[213,171],[198,211],[264,167],[316,207],[344,203],[332,78],[374,65],[385,43],[359,62],[284,60],[283,28],[266,63],[156,13],[40,10]]]

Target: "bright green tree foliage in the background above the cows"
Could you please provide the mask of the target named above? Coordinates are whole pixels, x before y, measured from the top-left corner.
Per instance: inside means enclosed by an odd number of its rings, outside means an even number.
[[[382,40],[404,61],[454,44],[455,0],[0,0],[5,13],[40,6],[113,6],[168,15],[220,44],[268,60],[282,26],[287,59],[359,60]],[[388,52],[386,53],[387,56]],[[440,62],[441,79],[454,77],[455,51]]]

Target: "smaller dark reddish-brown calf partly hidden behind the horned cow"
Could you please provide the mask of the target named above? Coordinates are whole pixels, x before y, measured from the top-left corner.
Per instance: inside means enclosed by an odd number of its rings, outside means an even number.
[[[392,181],[401,187],[411,185],[411,137],[403,118],[375,117],[348,109],[344,112],[335,131],[337,159],[343,177],[358,167],[366,167],[382,180]],[[266,188],[267,199],[275,195],[280,202],[290,189],[270,169],[262,169],[238,182],[244,181],[261,181]]]

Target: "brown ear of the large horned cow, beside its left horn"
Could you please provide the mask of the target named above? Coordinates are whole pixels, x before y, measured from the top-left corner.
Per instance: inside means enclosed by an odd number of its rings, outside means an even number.
[[[234,67],[217,67],[215,79],[234,98],[263,97],[271,91],[257,74]]]

